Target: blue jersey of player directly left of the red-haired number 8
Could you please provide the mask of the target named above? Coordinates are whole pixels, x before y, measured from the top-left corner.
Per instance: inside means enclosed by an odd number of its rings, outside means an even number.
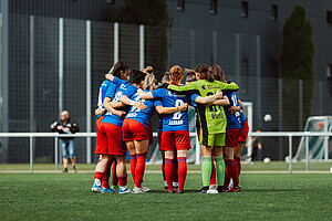
[[[149,92],[149,91],[144,91],[144,92]],[[139,102],[139,101],[144,101],[144,105],[146,105],[146,109],[138,109],[135,106],[132,106],[129,113],[127,114],[126,118],[131,118],[131,119],[135,119],[137,122],[139,122],[141,124],[143,124],[146,129],[148,129],[148,120],[152,117],[152,115],[154,114],[155,110],[155,103],[156,101],[154,99],[141,99],[137,95],[137,93],[135,93],[132,96],[132,99],[134,102]]]

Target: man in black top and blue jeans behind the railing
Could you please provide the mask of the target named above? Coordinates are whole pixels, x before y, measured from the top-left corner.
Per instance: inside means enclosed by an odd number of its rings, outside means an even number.
[[[58,119],[51,125],[52,131],[58,131],[59,134],[75,134],[80,131],[79,124],[70,118],[69,112],[63,110],[61,113],[61,119]],[[75,143],[74,137],[61,137],[61,149],[62,149],[62,157],[63,157],[63,171],[68,172],[68,159],[71,158],[71,161],[73,164],[73,172],[77,172],[75,162]]]

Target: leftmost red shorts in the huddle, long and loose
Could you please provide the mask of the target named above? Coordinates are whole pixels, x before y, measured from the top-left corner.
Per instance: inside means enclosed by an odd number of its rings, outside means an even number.
[[[125,155],[126,148],[122,145],[121,127],[111,123],[102,123],[97,133],[95,154]]]

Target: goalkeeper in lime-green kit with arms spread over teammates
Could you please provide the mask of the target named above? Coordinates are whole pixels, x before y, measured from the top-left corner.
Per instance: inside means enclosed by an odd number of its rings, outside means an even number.
[[[215,80],[214,74],[206,64],[198,64],[196,67],[197,82],[189,83],[185,86],[169,85],[168,90],[178,94],[196,93],[203,97],[214,95],[218,90],[224,93],[238,91],[236,83],[226,84]],[[228,99],[225,99],[228,102]],[[215,101],[217,105],[205,106],[197,104],[197,113],[200,123],[199,143],[201,145],[201,180],[203,188],[199,193],[217,193],[208,191],[211,176],[211,155],[216,161],[218,191],[222,191],[225,179],[225,162],[222,158],[222,146],[225,146],[227,120],[224,112],[222,102]],[[227,105],[227,104],[226,104]],[[219,188],[220,187],[220,188]]]

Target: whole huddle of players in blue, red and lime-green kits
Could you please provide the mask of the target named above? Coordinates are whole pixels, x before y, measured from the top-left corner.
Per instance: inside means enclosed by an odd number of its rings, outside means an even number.
[[[238,85],[225,83],[219,65],[198,64],[187,71],[173,66],[157,85],[153,67],[131,70],[118,61],[100,86],[96,120],[97,141],[93,192],[144,193],[146,154],[152,144],[151,117],[156,110],[158,145],[163,156],[165,191],[185,192],[189,141],[188,104],[196,108],[197,134],[203,155],[203,187],[198,193],[241,191],[240,155],[248,135],[248,124],[236,95]],[[189,83],[190,82],[190,83]],[[127,187],[126,151],[131,154],[134,189]],[[214,162],[215,160],[215,162]],[[110,177],[112,170],[112,186]],[[232,187],[229,182],[232,179]]]

